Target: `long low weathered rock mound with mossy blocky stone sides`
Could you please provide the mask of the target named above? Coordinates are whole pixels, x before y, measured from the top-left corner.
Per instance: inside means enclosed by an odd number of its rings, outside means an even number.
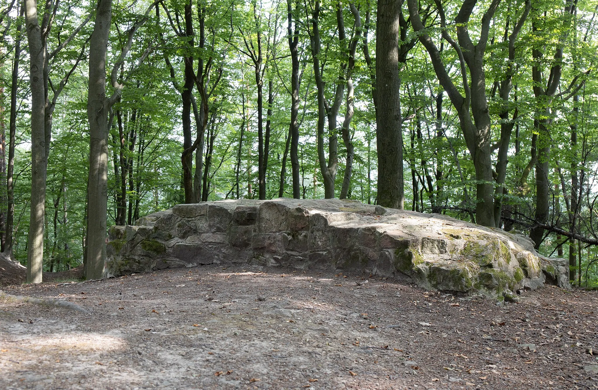
[[[109,232],[111,275],[212,263],[362,271],[499,300],[545,282],[570,288],[568,263],[523,235],[358,201],[180,204]]]

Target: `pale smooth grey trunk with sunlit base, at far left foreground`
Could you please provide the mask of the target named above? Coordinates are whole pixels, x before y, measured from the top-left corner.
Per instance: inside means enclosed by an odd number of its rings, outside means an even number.
[[[25,2],[25,26],[29,42],[29,82],[31,88],[31,208],[27,247],[27,282],[42,281],[44,265],[45,213],[45,90],[44,47],[38,23],[37,2]]]

